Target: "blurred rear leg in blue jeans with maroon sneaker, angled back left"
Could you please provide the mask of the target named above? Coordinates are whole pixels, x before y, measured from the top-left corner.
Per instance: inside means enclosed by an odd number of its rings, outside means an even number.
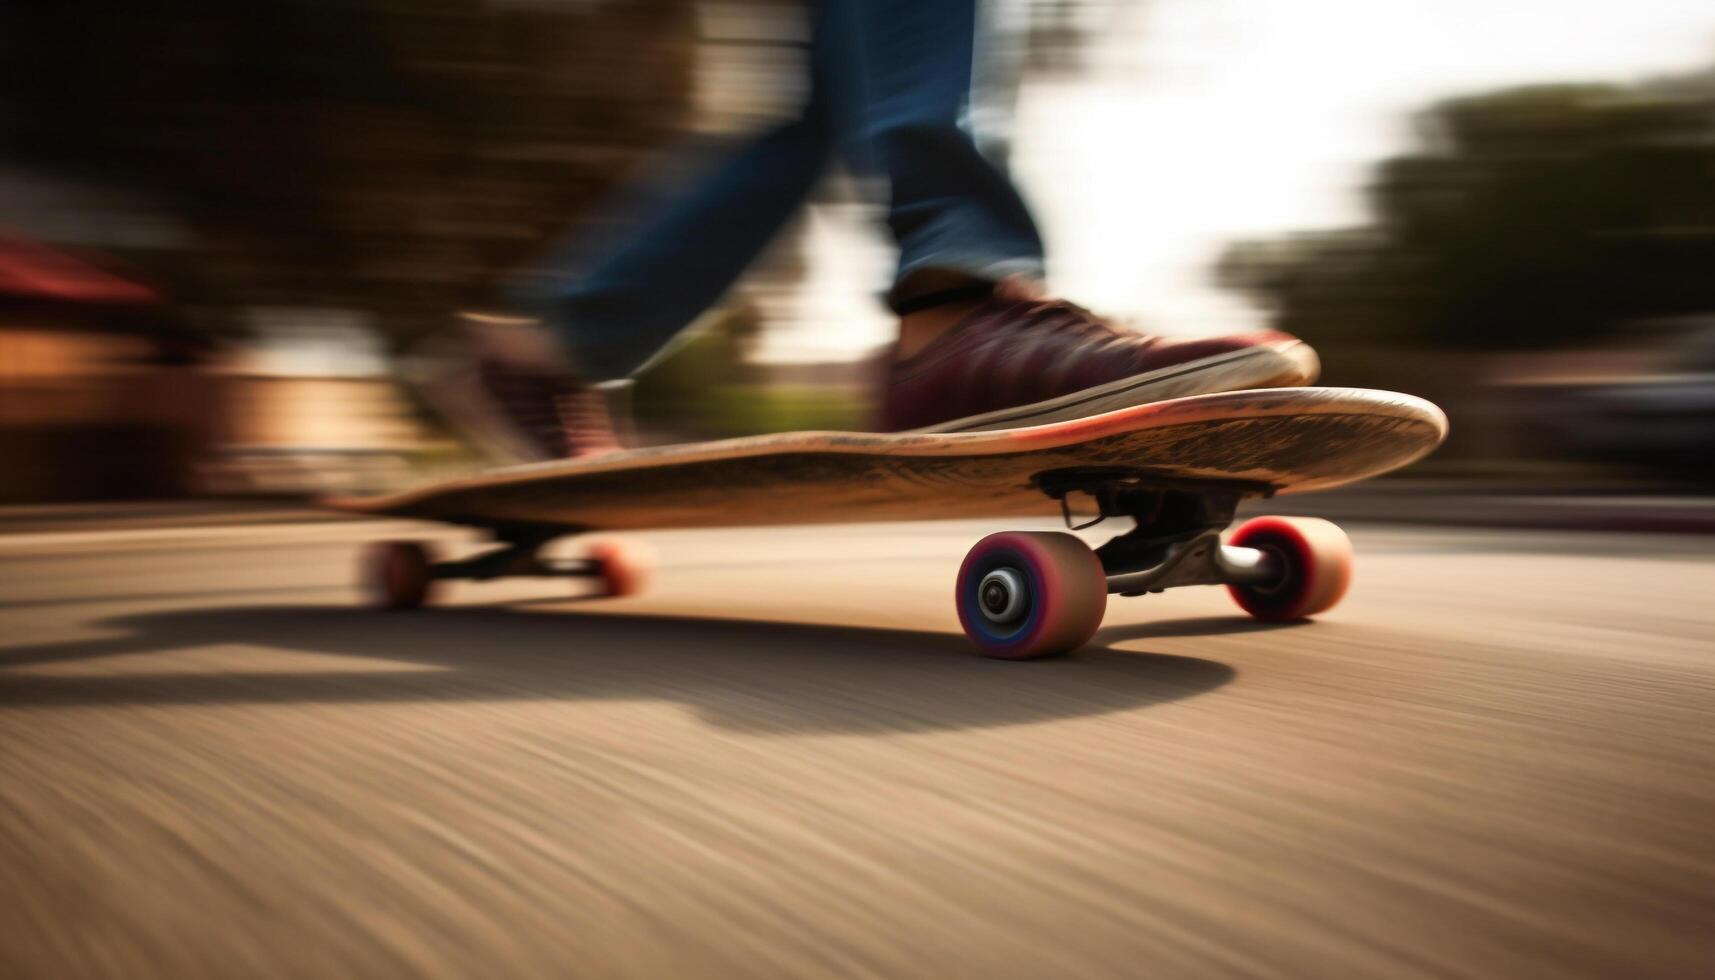
[[[811,45],[809,94],[796,120],[698,178],[633,187],[605,221],[617,235],[585,228],[516,288],[535,321],[465,318],[473,357],[429,396],[472,441],[513,458],[619,445],[604,383],[619,388],[717,302],[825,170],[840,132],[828,81],[845,70],[830,65],[851,62],[830,55],[845,46],[830,38],[818,31]]]

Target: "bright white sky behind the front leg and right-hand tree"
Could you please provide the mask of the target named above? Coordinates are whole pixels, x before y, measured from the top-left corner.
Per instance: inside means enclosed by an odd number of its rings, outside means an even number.
[[[1715,64],[1712,0],[1146,0],[1094,10],[1092,72],[1020,94],[1014,172],[1056,293],[1176,333],[1259,312],[1209,281],[1242,237],[1360,221],[1370,165],[1437,98],[1629,81]],[[801,324],[772,357],[888,338],[863,304],[890,251],[849,213],[811,218]],[[863,309],[854,309],[863,307]]]

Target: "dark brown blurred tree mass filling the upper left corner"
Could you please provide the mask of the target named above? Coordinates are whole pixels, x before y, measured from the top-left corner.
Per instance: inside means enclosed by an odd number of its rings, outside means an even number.
[[[187,305],[343,305],[403,342],[487,299],[683,129],[689,15],[689,0],[17,0],[0,163],[180,216],[182,247],[125,257]]]

